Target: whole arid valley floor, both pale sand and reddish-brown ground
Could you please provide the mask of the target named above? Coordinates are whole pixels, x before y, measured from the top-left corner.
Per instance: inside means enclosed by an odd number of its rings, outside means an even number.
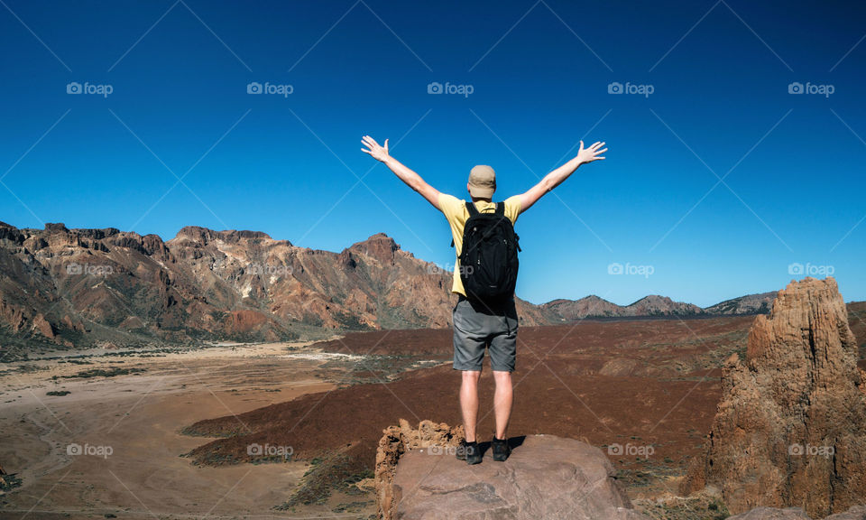
[[[653,517],[723,517],[712,498],[679,499],[677,482],[712,422],[723,359],[742,354],[753,319],[523,327],[509,433],[602,447]],[[866,304],[850,304],[849,320],[863,367]],[[13,487],[0,518],[373,517],[365,478],[382,429],[460,422],[450,354],[450,330],[382,330],[5,363],[0,464]],[[482,440],[493,429],[488,367]],[[250,463],[251,443],[291,456]]]

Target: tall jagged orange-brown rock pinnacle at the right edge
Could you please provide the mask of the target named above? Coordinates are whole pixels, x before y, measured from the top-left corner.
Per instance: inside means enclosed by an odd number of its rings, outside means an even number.
[[[823,518],[866,501],[866,396],[833,278],[779,291],[723,369],[723,398],[681,491],[712,484],[732,513],[798,506]],[[751,518],[751,517],[750,517]]]

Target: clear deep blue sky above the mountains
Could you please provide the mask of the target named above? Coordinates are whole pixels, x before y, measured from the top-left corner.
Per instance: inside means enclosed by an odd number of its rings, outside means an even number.
[[[866,5],[0,4],[0,220],[19,228],[254,229],[333,251],[384,232],[448,265],[445,219],[362,135],[461,197],[491,164],[499,198],[583,138],[607,160],[518,221],[521,297],[705,306],[782,288],[799,264],[866,300]]]

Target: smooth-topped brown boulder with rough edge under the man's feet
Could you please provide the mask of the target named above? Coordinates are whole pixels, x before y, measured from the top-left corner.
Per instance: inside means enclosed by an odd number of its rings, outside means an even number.
[[[376,457],[380,518],[643,520],[603,452],[552,435],[523,439],[509,460],[456,460],[462,432],[423,421],[384,430]]]

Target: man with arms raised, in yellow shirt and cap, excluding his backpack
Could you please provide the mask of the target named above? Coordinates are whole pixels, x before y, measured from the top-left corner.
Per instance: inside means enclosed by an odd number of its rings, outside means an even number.
[[[475,422],[478,418],[478,380],[481,377],[484,349],[488,348],[493,379],[496,381],[496,390],[493,395],[493,412],[496,422],[496,432],[493,434],[492,442],[493,460],[506,460],[511,453],[505,431],[511,417],[513,401],[511,372],[514,370],[518,329],[513,294],[502,304],[496,305],[467,298],[459,265],[465,223],[469,218],[469,209],[465,202],[451,195],[439,193],[438,190],[421,179],[418,173],[394,159],[388,153],[387,139],[385,139],[384,146],[380,146],[373,137],[364,135],[362,143],[366,146],[366,148],[361,149],[362,152],[368,153],[373,159],[388,166],[401,181],[405,182],[412,190],[418,191],[430,204],[442,211],[451,226],[451,236],[454,238],[458,256],[451,288],[451,292],[457,294],[457,303],[452,314],[454,369],[462,371],[460,409],[463,414],[465,429],[465,441],[457,450],[457,458],[461,460],[465,458],[467,464],[481,462],[481,450],[478,449],[475,436]],[[607,152],[607,148],[602,148],[603,145],[604,143],[595,143],[589,148],[584,148],[584,142],[581,141],[580,149],[572,160],[553,172],[549,172],[529,191],[521,195],[514,195],[502,202],[504,216],[511,220],[513,225],[523,211],[530,209],[545,193],[565,181],[581,164],[604,159],[602,153]],[[469,197],[478,212],[493,213],[496,210],[496,204],[492,201],[493,192],[496,190],[496,174],[493,172],[493,168],[486,165],[475,166],[469,173],[466,190],[468,190]]]

